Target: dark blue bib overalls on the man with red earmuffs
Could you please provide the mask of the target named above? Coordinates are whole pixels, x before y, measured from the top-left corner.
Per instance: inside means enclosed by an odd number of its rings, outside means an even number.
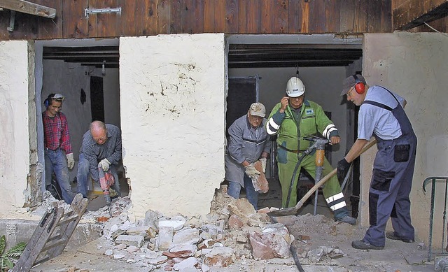
[[[368,103],[368,102],[367,102]],[[378,105],[376,105],[378,106]],[[400,103],[391,110],[400,123],[402,136],[394,140],[377,137],[378,152],[374,159],[369,191],[370,227],[364,242],[384,246],[388,217],[401,238],[414,239],[409,194],[414,176],[417,138]]]

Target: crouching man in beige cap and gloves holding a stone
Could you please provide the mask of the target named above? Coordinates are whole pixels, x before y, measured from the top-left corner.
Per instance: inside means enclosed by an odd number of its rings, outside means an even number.
[[[266,108],[262,103],[252,103],[246,115],[239,117],[229,127],[229,141],[225,155],[225,179],[229,182],[228,194],[239,198],[241,187],[246,198],[258,210],[258,192],[255,192],[252,178],[260,172],[253,164],[260,160],[262,171],[266,170],[269,155],[269,135],[265,131]]]

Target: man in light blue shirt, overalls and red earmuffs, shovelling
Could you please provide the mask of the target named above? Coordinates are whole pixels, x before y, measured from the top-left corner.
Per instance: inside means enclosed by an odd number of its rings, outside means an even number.
[[[369,190],[370,227],[363,240],[351,246],[360,250],[382,250],[384,231],[391,217],[393,232],[386,237],[406,243],[414,242],[409,194],[414,175],[417,138],[405,113],[406,100],[385,87],[369,86],[361,75],[344,80],[341,95],[360,106],[358,138],[337,164],[337,176],[342,178],[372,135],[377,139],[378,152],[374,159]]]

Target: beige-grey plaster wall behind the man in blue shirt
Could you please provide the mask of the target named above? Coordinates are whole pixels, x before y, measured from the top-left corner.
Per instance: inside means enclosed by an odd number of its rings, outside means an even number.
[[[447,62],[447,37],[442,34],[365,34],[363,73],[367,83],[389,87],[407,100],[405,111],[419,141],[410,196],[412,223],[416,236],[426,242],[430,185],[423,194],[422,183],[428,176],[448,176]],[[363,170],[360,205],[367,225],[371,164],[363,164]],[[444,184],[438,188],[433,241],[441,245]]]

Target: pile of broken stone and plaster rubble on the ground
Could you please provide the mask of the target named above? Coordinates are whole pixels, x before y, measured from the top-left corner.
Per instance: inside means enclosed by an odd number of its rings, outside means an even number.
[[[144,219],[130,222],[126,208],[129,197],[120,198],[112,205],[114,217],[102,223],[103,236],[97,248],[113,259],[165,271],[209,271],[211,266],[227,267],[236,261],[244,264],[251,260],[287,259],[295,238],[303,245],[297,254],[310,262],[344,255],[337,248],[312,247],[310,236],[290,234],[286,225],[298,230],[293,218],[300,216],[283,218],[283,222],[274,224],[266,214],[269,208],[257,212],[247,199],[233,199],[226,190],[225,185],[216,190],[207,219],[165,217],[148,210]],[[102,217],[94,216],[97,220]],[[86,217],[92,217],[92,213]]]

